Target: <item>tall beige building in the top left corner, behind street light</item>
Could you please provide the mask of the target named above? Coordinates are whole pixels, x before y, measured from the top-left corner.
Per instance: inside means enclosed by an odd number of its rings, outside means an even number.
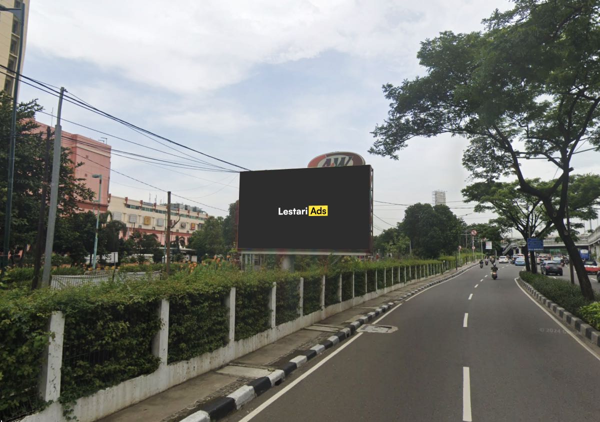
[[[29,16],[29,0],[0,0],[0,5],[8,8],[20,8],[25,3],[25,26],[23,26],[23,51],[25,57],[25,44],[27,40],[27,22]],[[0,11],[0,65],[8,67],[13,72],[17,69],[19,59],[19,43],[21,22],[17,16],[9,11]],[[23,71],[23,59],[21,60]],[[7,75],[8,73],[8,75]],[[5,68],[0,68],[0,88],[13,95],[14,73]]]

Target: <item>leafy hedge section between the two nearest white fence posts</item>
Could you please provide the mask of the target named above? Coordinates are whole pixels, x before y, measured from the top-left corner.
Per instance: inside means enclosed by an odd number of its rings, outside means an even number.
[[[125,286],[130,292],[124,291]],[[160,329],[158,301],[143,289],[134,293],[131,287],[86,285],[56,295],[56,309],[65,315],[62,402],[158,368],[151,349]]]

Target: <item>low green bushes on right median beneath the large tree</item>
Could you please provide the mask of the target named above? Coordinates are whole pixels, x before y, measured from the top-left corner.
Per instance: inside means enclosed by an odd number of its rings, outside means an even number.
[[[581,307],[589,305],[590,301],[583,297],[578,285],[542,276],[542,274],[528,273],[527,271],[521,271],[519,275],[521,279],[532,285],[540,294],[559,304],[573,315],[584,319],[579,311]],[[600,301],[600,294],[595,293],[595,296],[596,300]]]

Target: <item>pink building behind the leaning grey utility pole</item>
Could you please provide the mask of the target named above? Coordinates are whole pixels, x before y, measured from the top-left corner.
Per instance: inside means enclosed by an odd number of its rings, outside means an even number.
[[[37,122],[37,124],[40,125],[38,130],[42,133],[46,133],[48,125],[40,122]],[[54,130],[53,127],[50,129],[52,131]],[[83,163],[82,166],[76,167],[75,176],[78,179],[84,179],[86,186],[95,192],[95,200],[98,200],[100,178],[94,178],[92,175],[102,175],[100,211],[103,213],[106,212],[109,202],[111,146],[83,135],[65,131],[62,131],[61,145],[64,148],[71,149],[71,160],[74,163]],[[95,211],[96,207],[96,202],[79,201],[79,208],[85,211]]]

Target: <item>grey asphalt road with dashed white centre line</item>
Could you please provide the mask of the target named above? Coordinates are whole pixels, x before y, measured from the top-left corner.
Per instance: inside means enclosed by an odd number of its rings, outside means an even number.
[[[227,420],[600,420],[600,357],[499,267],[410,298],[379,321],[397,331],[355,334]]]

